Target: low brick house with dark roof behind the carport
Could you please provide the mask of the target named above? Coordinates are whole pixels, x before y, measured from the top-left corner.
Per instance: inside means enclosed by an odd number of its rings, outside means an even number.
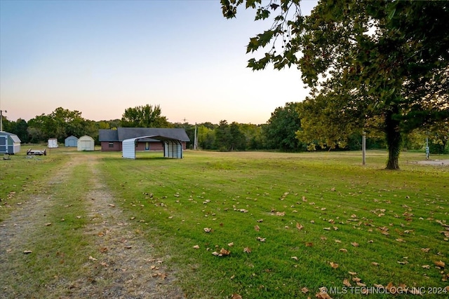
[[[154,138],[139,138],[147,136]],[[136,139],[135,151],[163,151],[163,140],[166,139],[180,141],[182,149],[186,149],[186,144],[190,141],[184,129],[160,127],[119,127],[117,130],[99,130],[98,139],[101,151],[122,151],[123,140],[126,139]]]

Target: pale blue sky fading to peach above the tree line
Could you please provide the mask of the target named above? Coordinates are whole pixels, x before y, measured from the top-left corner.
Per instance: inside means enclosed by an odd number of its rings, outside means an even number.
[[[266,123],[308,95],[296,67],[246,68],[250,37],[270,25],[244,6],[227,20],[218,0],[0,0],[0,110],[111,120],[151,104],[171,123]]]

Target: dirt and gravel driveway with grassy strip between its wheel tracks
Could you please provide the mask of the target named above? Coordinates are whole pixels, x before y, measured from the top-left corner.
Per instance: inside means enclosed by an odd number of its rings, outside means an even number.
[[[86,258],[81,269],[83,274],[76,279],[55,277],[51,284],[46,284],[46,298],[184,298],[175,273],[164,264],[165,258],[157,256],[152,244],[135,233],[133,221],[123,214],[105,183],[100,181],[98,155],[72,155],[67,165],[51,176],[49,185],[66,183],[76,165],[88,165],[90,173],[86,175],[93,178],[93,188],[83,195],[88,214],[83,233],[95,240],[87,246],[98,255]],[[18,291],[13,287],[17,281],[12,280],[15,266],[11,256],[22,253],[25,244],[39,239],[36,228],[42,227],[46,211],[55,204],[58,195],[28,198],[11,213],[11,218],[0,223],[0,298],[35,298],[34,290],[24,287]]]

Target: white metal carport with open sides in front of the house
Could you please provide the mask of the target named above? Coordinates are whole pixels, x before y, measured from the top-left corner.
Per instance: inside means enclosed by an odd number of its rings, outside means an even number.
[[[164,158],[182,159],[182,141],[159,135],[141,136],[123,140],[121,144],[123,158],[135,159],[135,146],[139,139],[145,138],[156,139],[162,142]]]

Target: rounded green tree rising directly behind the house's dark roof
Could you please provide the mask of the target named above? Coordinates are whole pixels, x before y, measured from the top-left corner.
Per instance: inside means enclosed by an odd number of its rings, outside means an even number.
[[[136,106],[125,109],[121,117],[122,127],[170,127],[159,105]]]

